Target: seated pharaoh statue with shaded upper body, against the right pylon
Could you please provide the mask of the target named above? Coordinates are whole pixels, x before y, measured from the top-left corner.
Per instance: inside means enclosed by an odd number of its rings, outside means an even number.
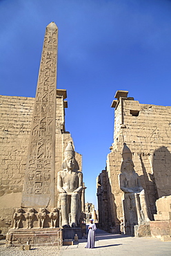
[[[124,212],[125,234],[134,235],[134,226],[145,224],[148,218],[148,208],[145,192],[139,180],[139,175],[134,171],[132,152],[123,143],[123,162],[119,174],[119,187],[124,192],[122,203]]]

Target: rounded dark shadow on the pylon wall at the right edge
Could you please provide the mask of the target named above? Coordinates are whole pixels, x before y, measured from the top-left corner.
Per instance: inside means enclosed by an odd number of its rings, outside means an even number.
[[[167,147],[154,151],[152,159],[154,179],[159,198],[171,194],[171,154]]]

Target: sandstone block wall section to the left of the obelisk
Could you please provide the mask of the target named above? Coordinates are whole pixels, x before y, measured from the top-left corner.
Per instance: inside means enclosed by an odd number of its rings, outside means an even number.
[[[10,228],[21,205],[34,98],[0,96],[0,226]]]

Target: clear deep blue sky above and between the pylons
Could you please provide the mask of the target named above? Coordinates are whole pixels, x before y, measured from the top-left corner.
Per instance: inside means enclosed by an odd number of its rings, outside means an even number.
[[[57,88],[83,155],[86,201],[113,142],[117,90],[170,105],[170,0],[0,0],[0,94],[34,97],[46,26],[59,28]]]

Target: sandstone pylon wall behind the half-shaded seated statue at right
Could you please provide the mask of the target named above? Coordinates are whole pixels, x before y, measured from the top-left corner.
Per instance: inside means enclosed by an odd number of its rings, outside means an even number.
[[[150,219],[156,213],[155,201],[171,194],[171,107],[140,104],[121,93],[115,98],[114,143],[106,162],[106,188],[111,215],[118,225],[123,217],[123,192],[118,181],[123,143],[133,154],[134,170],[147,195]]]

